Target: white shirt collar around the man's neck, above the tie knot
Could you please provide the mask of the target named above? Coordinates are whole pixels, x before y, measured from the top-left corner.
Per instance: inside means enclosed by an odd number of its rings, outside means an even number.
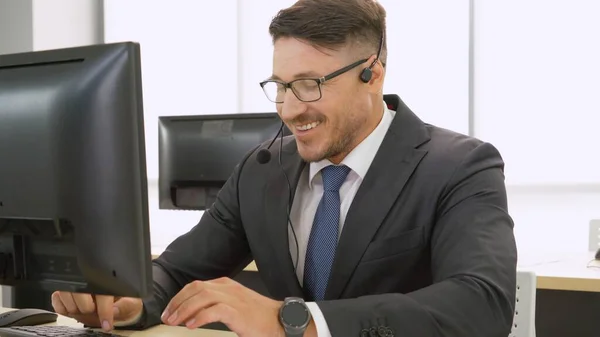
[[[365,178],[365,175],[375,158],[375,154],[379,150],[379,146],[383,142],[383,138],[385,138],[385,135],[392,124],[392,120],[394,119],[395,111],[388,109],[385,102],[383,106],[383,114],[377,127],[340,163],[340,165],[348,166],[354,173],[358,174],[360,179]],[[308,187],[310,189],[312,189],[313,180],[317,173],[329,165],[333,165],[329,159],[310,163],[308,177]]]

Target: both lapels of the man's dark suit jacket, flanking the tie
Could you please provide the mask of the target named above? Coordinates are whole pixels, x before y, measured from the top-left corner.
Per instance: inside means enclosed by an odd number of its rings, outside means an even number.
[[[418,148],[430,139],[425,124],[397,95],[385,95],[384,100],[396,114],[346,216],[325,294],[326,300],[339,298],[343,294],[361,256],[410,175],[427,153]],[[273,147],[278,148],[278,142]],[[293,201],[288,201],[288,180],[293,198],[306,162],[298,154],[293,136],[283,139],[283,170],[279,168],[278,153],[274,152],[269,164],[273,165],[272,175],[264,194],[267,232],[282,275],[281,283],[285,287],[281,290],[285,296],[301,297],[302,288],[289,254],[287,220],[288,207],[291,207]]]

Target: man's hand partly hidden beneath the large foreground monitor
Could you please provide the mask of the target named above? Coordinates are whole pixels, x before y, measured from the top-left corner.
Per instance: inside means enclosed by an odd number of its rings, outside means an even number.
[[[68,316],[90,326],[113,329],[115,322],[134,323],[141,316],[142,300],[138,298],[100,296],[57,291],[52,294],[52,307],[57,314]]]

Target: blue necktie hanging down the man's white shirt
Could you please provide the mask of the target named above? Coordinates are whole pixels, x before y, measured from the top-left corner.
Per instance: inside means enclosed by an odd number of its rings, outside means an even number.
[[[313,220],[304,264],[304,288],[316,301],[325,297],[340,227],[340,187],[349,172],[348,166],[321,170],[323,197]]]

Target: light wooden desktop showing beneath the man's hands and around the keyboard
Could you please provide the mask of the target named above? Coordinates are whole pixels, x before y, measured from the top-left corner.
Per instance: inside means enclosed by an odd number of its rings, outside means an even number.
[[[6,312],[12,309],[1,308],[0,313]],[[63,325],[71,326],[75,328],[81,328],[83,325],[74,319],[65,316],[58,316],[56,323],[45,324],[45,325]],[[148,330],[144,331],[126,331],[126,330],[115,330],[113,333],[121,336],[133,336],[133,337],[233,337],[236,336],[233,332],[228,331],[217,331],[208,329],[195,329],[190,330],[185,327],[173,327],[168,325],[157,325]]]

